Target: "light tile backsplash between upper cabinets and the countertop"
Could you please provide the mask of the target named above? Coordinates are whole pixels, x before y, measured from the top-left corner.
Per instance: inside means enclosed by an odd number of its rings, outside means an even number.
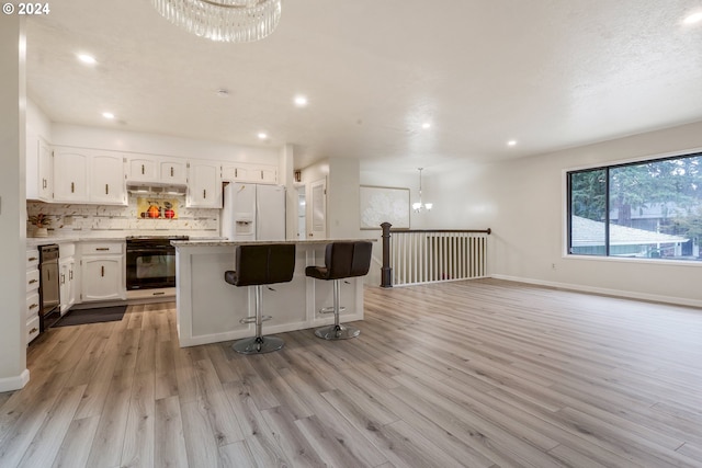
[[[143,195],[141,195],[143,196]],[[171,199],[172,195],[149,195],[149,199]],[[52,220],[49,237],[124,237],[124,236],[192,236],[218,237],[219,209],[186,208],[182,196],[178,219],[140,218],[136,195],[129,194],[127,206],[73,205],[30,202],[27,217],[43,213]],[[27,237],[34,227],[27,222]]]

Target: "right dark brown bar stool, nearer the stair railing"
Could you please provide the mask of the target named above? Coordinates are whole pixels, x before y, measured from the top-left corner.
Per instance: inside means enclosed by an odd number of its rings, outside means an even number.
[[[339,307],[340,282],[353,276],[365,276],[371,267],[371,251],[373,246],[369,241],[332,242],[325,251],[325,266],[307,266],[307,276],[333,281],[333,307],[325,307],[319,313],[332,313],[333,324],[322,327],[315,334],[325,340],[343,340],[355,338],[361,333],[355,327],[339,323],[339,312],[346,310]]]

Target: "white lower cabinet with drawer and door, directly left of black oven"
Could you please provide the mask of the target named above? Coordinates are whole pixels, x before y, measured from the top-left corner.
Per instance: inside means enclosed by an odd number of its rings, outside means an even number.
[[[126,299],[124,242],[81,246],[81,301]]]

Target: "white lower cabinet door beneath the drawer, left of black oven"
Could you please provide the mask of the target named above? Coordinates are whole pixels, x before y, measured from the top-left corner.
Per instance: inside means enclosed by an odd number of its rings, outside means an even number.
[[[83,303],[125,299],[123,255],[89,255],[82,260]]]

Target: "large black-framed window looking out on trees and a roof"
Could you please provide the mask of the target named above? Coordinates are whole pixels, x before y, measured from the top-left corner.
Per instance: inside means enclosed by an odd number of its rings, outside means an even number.
[[[702,153],[567,178],[569,253],[702,261]]]

